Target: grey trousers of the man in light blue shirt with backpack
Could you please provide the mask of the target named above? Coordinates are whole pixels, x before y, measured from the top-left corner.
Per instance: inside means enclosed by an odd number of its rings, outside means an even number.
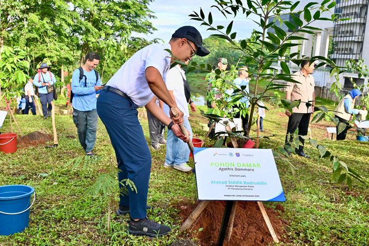
[[[96,142],[97,111],[73,109],[73,122],[77,126],[78,139],[86,153],[92,152]]]

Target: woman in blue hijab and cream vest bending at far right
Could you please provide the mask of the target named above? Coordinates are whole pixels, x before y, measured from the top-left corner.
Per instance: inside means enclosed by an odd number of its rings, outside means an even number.
[[[342,100],[338,103],[336,108],[335,116],[339,122],[345,123],[348,126],[348,121],[351,119],[352,115],[359,114],[358,109],[354,109],[355,99],[361,95],[361,92],[358,89],[354,89],[350,91]],[[338,126],[337,133],[338,133]],[[342,132],[337,134],[337,140],[344,140],[346,138],[348,127],[346,127]]]

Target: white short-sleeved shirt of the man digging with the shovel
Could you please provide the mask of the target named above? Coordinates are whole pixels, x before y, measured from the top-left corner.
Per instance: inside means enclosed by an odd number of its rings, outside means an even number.
[[[170,68],[170,54],[164,49],[171,49],[170,44],[151,44],[137,51],[106,84],[124,92],[137,108],[145,106],[154,98],[145,77],[146,68],[156,68],[161,77]]]

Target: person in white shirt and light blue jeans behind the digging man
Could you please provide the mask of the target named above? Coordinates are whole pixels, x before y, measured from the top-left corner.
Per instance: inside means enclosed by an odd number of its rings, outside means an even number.
[[[188,64],[189,60],[185,63]],[[189,111],[187,106],[187,100],[184,93],[184,80],[186,79],[184,75],[184,70],[181,68],[180,64],[177,64],[169,70],[165,76],[165,85],[168,88],[169,94],[172,96],[173,100],[177,103],[178,108],[184,113],[183,124],[184,127],[190,133],[190,139],[192,140],[192,129],[188,122]],[[169,116],[169,106],[164,104],[164,113]],[[189,172],[192,170],[190,166],[187,165],[189,158],[189,149],[186,143],[178,139],[173,131],[168,131],[167,134],[167,152],[165,156],[164,167],[173,167],[177,170],[183,172]]]

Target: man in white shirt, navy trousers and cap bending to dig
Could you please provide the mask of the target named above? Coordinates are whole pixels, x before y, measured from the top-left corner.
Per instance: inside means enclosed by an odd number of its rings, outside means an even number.
[[[97,114],[105,125],[117,157],[120,188],[128,189],[126,194],[120,192],[117,214],[130,214],[130,234],[158,237],[171,231],[169,226],[147,218],[151,154],[138,121],[137,108],[145,106],[157,120],[168,126],[168,131],[187,142],[189,138],[179,127],[184,113],[169,94],[163,78],[175,60],[184,62],[196,54],[206,56],[209,53],[202,46],[199,31],[191,26],[181,27],[173,33],[168,44],[151,44],[137,51],[113,75],[97,98]],[[171,118],[156,105],[156,97],[170,106]],[[135,190],[126,186],[126,179],[135,184]]]

